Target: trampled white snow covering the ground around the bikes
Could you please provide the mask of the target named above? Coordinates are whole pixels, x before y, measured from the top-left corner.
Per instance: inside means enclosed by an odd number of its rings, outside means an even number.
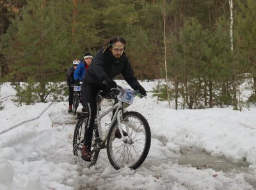
[[[122,80],[118,84],[128,87]],[[147,91],[156,85],[141,84]],[[17,126],[0,135],[0,189],[255,188],[246,180],[245,173],[198,170],[177,160],[180,150],[195,147],[230,163],[245,162],[251,181],[255,181],[256,108],[241,112],[232,107],[174,110],[165,101],[157,103],[152,92],[148,92],[147,98],[135,98],[127,108],[140,112],[150,124],[152,142],[147,159],[137,170],[115,170],[105,149],[92,168],[73,155],[76,117],[68,114],[67,101],[17,107],[12,101],[12,85],[3,84],[0,90],[0,99],[9,96],[0,111],[0,133]],[[108,105],[108,101],[103,101],[102,106]],[[110,120],[110,115],[107,117]]]

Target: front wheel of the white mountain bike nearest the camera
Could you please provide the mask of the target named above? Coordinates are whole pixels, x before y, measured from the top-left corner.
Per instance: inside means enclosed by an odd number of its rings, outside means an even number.
[[[135,170],[148,155],[151,142],[150,128],[145,117],[138,112],[123,113],[121,122],[122,131],[129,135],[125,136],[125,142],[122,138],[116,137],[118,122],[114,122],[108,134],[108,159],[116,170],[125,166]]]

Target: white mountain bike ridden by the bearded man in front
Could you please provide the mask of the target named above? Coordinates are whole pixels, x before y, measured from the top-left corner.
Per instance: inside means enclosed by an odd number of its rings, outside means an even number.
[[[138,112],[126,112],[124,103],[132,104],[135,96],[143,98],[138,91],[113,89],[119,91],[118,102],[108,110],[100,114],[100,101],[97,101],[97,118],[93,128],[92,140],[92,161],[88,167],[93,166],[98,159],[100,149],[107,149],[108,159],[116,169],[128,166],[131,169],[138,168],[146,159],[150,149],[151,133],[147,119]],[[100,99],[100,92],[97,94]],[[101,119],[108,113],[115,110],[110,124],[106,124],[106,133],[102,135]],[[88,117],[83,113],[78,117],[73,138],[73,153],[81,157],[81,147],[84,143],[84,131]],[[119,130],[119,138],[116,137],[116,130]]]

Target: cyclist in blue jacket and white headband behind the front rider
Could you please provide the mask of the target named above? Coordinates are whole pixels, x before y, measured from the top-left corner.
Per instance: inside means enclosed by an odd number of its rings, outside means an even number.
[[[81,60],[80,64],[77,66],[76,71],[74,72],[75,84],[80,85],[80,82],[83,80],[83,77],[92,63],[92,54],[85,53],[84,58]],[[83,93],[83,92],[82,92]],[[82,101],[82,105],[84,107],[84,103]],[[82,112],[86,112],[86,108],[82,108]]]

